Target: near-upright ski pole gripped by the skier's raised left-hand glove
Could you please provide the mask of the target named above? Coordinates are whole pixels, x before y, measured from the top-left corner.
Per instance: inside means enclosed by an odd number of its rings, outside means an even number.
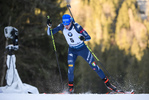
[[[60,66],[59,66],[59,61],[58,61],[58,57],[57,57],[57,51],[56,51],[56,46],[55,46],[55,41],[54,41],[52,29],[50,29],[50,31],[51,31],[51,37],[52,37],[53,47],[54,47],[54,51],[55,51],[56,61],[57,61],[58,69],[59,69],[59,74],[60,74],[60,79],[61,79],[61,84],[62,84],[62,90],[63,90],[64,89],[63,79],[62,79],[62,74],[61,74],[61,70],[60,70]]]

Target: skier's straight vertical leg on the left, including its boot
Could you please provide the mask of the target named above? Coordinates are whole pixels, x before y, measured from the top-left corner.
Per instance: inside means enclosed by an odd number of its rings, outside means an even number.
[[[74,66],[76,61],[77,55],[73,54],[71,50],[68,51],[68,86],[69,86],[69,92],[73,93],[73,80],[74,80]]]

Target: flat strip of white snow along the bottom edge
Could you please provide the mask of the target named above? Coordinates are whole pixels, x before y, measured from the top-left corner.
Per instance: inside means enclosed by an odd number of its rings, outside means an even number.
[[[0,100],[149,100],[149,94],[0,94]]]

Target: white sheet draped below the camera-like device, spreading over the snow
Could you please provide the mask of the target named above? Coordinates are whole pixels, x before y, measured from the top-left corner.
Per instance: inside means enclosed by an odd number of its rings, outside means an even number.
[[[38,89],[29,84],[22,83],[18,71],[16,69],[15,55],[7,55],[7,73],[6,83],[4,87],[0,87],[0,93],[32,93],[39,94]]]

